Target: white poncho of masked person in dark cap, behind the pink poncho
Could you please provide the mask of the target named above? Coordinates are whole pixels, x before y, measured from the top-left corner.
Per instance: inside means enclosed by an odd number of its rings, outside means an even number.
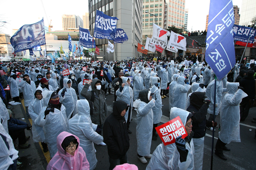
[[[61,105],[61,110],[54,108],[54,112],[49,112],[45,117],[45,110],[51,99],[53,91],[43,91],[44,107],[34,121],[36,125],[43,127],[46,143],[50,152],[50,157],[53,158],[57,149],[57,136],[67,131],[67,115],[66,108]],[[45,118],[45,119],[44,119]]]

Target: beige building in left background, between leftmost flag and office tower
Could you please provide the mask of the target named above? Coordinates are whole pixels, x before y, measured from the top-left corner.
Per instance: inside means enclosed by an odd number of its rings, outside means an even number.
[[[62,29],[73,30],[83,28],[83,20],[76,15],[62,15]]]

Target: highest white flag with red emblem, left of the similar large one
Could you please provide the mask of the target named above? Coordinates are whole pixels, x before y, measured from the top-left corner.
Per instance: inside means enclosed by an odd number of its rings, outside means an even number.
[[[150,40],[151,44],[160,45],[163,49],[167,46],[167,36],[170,36],[170,32],[162,29],[160,26],[153,23],[153,35]]]

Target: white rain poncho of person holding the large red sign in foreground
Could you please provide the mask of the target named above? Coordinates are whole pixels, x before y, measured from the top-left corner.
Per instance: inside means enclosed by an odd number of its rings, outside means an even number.
[[[170,120],[180,116],[183,125],[186,125],[189,112],[183,109],[173,107],[170,112]],[[180,162],[180,153],[176,144],[163,145],[156,147],[148,163],[146,170],[193,170],[194,169],[194,143],[193,139],[190,145],[186,142],[186,149],[189,151],[187,160]]]

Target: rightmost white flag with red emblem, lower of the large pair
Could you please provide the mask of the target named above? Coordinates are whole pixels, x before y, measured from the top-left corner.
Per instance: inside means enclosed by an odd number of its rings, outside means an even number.
[[[180,34],[176,34],[173,31],[171,31],[169,45],[172,47],[176,47],[177,49],[186,51],[186,38]]]

